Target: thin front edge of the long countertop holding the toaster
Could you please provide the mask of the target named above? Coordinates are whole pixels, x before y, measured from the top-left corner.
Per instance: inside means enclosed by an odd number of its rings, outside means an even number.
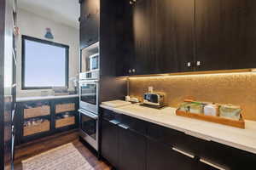
[[[198,132],[191,131],[189,129],[185,129],[185,128],[182,128],[182,127],[172,126],[172,125],[169,125],[169,124],[166,124],[166,123],[163,123],[163,122],[154,121],[152,119],[148,119],[148,118],[145,118],[143,116],[132,115],[129,112],[120,111],[119,108],[113,108],[113,107],[109,107],[109,106],[106,106],[106,105],[100,105],[100,107],[102,107],[104,109],[108,109],[110,111],[117,112],[119,114],[124,114],[124,115],[127,115],[127,116],[132,116],[132,117],[135,117],[137,119],[140,119],[140,120],[143,120],[143,121],[146,121],[146,122],[152,122],[152,123],[158,124],[158,125],[163,126],[163,127],[172,128],[172,129],[175,129],[177,131],[180,131],[180,132],[186,133],[188,135],[194,136],[195,138],[205,139],[205,140],[217,142],[219,144],[229,145],[231,147],[234,147],[234,148],[237,148],[237,149],[240,149],[240,150],[246,150],[246,151],[248,151],[250,153],[256,154],[256,148],[252,148],[252,147],[249,147],[249,146],[244,145],[244,144],[236,144],[236,143],[234,143],[232,141],[227,141],[227,140],[224,140],[224,139],[218,139],[216,137],[209,136],[209,135],[207,135],[205,133],[198,133]]]

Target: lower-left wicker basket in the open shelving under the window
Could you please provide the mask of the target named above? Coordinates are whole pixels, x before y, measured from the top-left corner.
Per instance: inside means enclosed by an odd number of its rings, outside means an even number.
[[[44,121],[38,125],[23,127],[23,136],[32,135],[35,133],[42,133],[45,131],[49,131],[49,121]]]

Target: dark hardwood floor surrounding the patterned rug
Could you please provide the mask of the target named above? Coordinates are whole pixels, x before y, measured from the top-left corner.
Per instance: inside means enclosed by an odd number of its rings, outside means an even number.
[[[31,143],[21,144],[15,148],[15,170],[22,170],[21,161],[36,156],[44,151],[54,149],[62,144],[73,143],[84,158],[96,170],[112,169],[106,162],[100,161],[97,157],[79,141],[77,131],[59,133],[44,139],[38,139]]]

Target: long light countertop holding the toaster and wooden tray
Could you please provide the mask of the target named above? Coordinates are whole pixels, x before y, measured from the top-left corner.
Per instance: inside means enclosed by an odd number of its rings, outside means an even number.
[[[246,121],[245,129],[229,127],[213,122],[204,122],[183,116],[176,116],[176,108],[166,107],[161,110],[137,104],[120,107],[100,105],[102,108],[119,114],[136,117],[155,124],[170,127],[200,139],[230,145],[256,154],[256,122]]]

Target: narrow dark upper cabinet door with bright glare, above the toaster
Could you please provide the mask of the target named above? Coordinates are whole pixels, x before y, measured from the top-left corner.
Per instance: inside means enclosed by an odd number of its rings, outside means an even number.
[[[155,51],[156,1],[141,0],[133,8],[135,74],[155,73],[158,59]]]

